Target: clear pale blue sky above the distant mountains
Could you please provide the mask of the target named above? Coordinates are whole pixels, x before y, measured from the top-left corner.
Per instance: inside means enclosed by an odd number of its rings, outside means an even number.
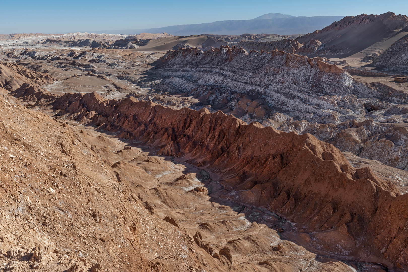
[[[0,7],[0,34],[148,29],[220,20],[249,20],[265,13],[345,16],[392,11],[408,14],[407,0],[0,0]]]

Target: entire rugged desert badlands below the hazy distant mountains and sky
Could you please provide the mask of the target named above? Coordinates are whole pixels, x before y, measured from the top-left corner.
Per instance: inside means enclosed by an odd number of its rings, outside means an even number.
[[[390,12],[0,36],[0,270],[406,271],[407,54]]]

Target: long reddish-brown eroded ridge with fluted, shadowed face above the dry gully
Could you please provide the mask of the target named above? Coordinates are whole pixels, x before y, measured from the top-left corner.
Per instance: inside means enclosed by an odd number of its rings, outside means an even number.
[[[303,245],[398,269],[406,265],[400,247],[408,235],[406,195],[369,168],[351,167],[337,148],[312,135],[133,97],[67,94],[53,106],[65,118],[120,132],[118,137],[212,171],[215,182],[208,189],[214,196],[278,213],[295,224],[296,232],[288,235]]]

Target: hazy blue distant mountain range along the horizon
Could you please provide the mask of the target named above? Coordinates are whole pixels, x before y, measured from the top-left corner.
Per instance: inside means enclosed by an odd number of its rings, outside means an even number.
[[[219,35],[241,35],[243,33],[269,33],[280,35],[306,34],[341,20],[344,16],[292,16],[268,13],[252,20],[227,20],[203,24],[181,24],[151,29],[121,29],[91,31],[106,34],[169,33],[177,36],[211,33]]]

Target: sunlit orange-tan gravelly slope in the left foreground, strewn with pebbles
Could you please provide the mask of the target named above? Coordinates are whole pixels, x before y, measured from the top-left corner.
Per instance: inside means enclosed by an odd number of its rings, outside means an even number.
[[[194,247],[189,234],[151,216],[104,160],[120,146],[0,100],[2,271],[188,270],[170,249]]]

